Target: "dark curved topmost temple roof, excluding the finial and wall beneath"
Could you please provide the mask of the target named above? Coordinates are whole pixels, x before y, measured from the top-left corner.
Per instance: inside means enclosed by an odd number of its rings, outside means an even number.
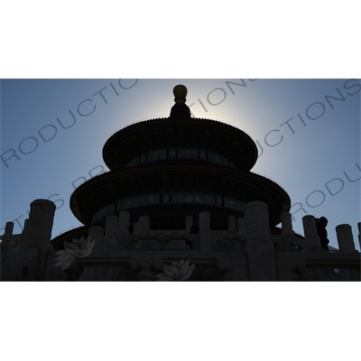
[[[164,148],[198,148],[221,154],[249,171],[258,151],[252,138],[233,125],[203,118],[158,118],[128,125],[105,143],[103,158],[112,171],[142,153]]]

